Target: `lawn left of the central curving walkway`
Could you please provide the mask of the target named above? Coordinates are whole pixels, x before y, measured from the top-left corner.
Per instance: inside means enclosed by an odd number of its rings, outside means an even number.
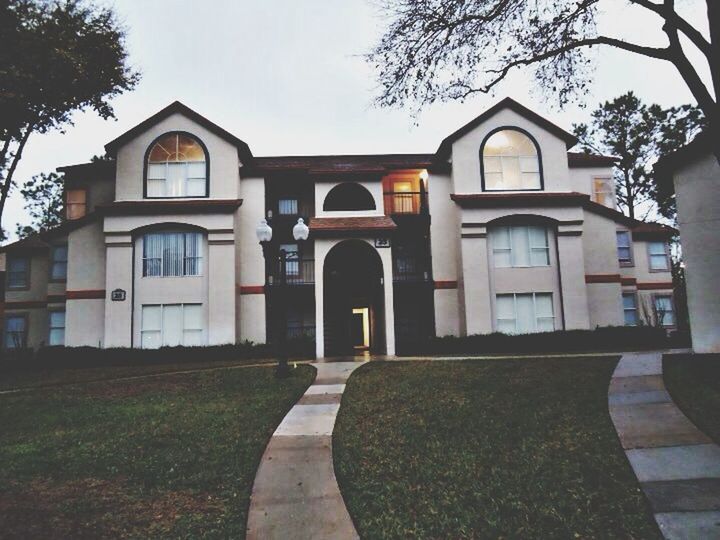
[[[0,396],[0,536],[244,537],[262,452],[314,374],[249,367]]]

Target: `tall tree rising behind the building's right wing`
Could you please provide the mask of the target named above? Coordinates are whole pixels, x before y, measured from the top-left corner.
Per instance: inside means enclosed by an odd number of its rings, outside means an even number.
[[[585,151],[619,158],[614,170],[615,193],[628,216],[637,217],[638,206],[653,201],[662,215],[673,219],[673,193],[656,182],[651,166],[661,155],[690,142],[704,126],[705,117],[698,107],[648,106],[628,92],[600,104],[589,124],[573,128]]]

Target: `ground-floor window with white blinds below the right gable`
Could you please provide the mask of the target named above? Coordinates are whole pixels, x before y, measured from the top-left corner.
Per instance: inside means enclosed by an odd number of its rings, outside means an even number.
[[[552,293],[498,294],[498,332],[529,334],[555,330]]]

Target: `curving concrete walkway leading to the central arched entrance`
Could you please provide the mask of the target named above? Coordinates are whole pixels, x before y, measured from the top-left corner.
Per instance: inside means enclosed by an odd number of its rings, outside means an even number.
[[[335,479],[332,432],[360,362],[315,363],[315,382],[275,430],[255,476],[248,539],[359,538]]]

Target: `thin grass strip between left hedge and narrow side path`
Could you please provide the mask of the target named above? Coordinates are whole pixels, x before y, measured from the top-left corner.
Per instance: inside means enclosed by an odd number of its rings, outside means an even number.
[[[173,371],[192,371],[196,369],[215,369],[235,367],[250,364],[275,363],[274,359],[238,359],[216,360],[208,363],[203,360],[197,362],[170,362],[167,364],[131,365],[131,366],[103,366],[82,368],[46,368],[26,370],[0,370],[0,391],[18,388],[43,388],[71,383],[95,382],[122,377],[136,377],[169,373]]]

